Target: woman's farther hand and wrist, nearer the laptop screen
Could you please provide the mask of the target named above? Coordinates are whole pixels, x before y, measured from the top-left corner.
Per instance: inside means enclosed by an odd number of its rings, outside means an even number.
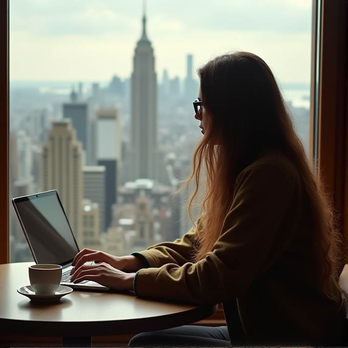
[[[71,274],[86,262],[94,261],[95,263],[106,263],[115,269],[124,272],[137,272],[143,268],[142,259],[137,256],[113,256],[103,251],[83,249],[76,254],[72,266]]]

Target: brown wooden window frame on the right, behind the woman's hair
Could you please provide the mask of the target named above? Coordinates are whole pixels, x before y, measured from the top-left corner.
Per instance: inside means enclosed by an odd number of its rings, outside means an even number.
[[[348,236],[347,15],[347,0],[313,0],[310,153],[337,212],[345,248]]]

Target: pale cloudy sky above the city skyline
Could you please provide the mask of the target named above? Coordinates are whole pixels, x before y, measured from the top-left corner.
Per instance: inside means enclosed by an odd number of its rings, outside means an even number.
[[[186,56],[250,51],[280,82],[309,83],[312,0],[10,0],[10,80],[128,78],[142,32],[158,79],[186,76]]]

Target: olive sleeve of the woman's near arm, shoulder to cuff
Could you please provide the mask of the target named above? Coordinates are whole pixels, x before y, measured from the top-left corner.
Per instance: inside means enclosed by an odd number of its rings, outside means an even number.
[[[242,175],[243,174],[243,175]],[[220,303],[243,294],[273,255],[270,249],[286,224],[293,190],[279,168],[262,165],[237,178],[235,196],[219,239],[193,264],[169,264],[137,272],[138,296],[195,303]],[[291,217],[290,217],[291,219]],[[155,257],[156,259],[156,257]]]

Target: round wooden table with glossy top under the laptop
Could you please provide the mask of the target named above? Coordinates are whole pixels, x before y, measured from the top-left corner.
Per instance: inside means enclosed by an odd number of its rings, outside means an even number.
[[[57,302],[34,302],[16,291],[30,285],[32,264],[0,265],[0,334],[61,336],[64,346],[92,346],[92,336],[168,329],[202,320],[217,310],[217,305],[139,298],[130,291],[74,290]]]

